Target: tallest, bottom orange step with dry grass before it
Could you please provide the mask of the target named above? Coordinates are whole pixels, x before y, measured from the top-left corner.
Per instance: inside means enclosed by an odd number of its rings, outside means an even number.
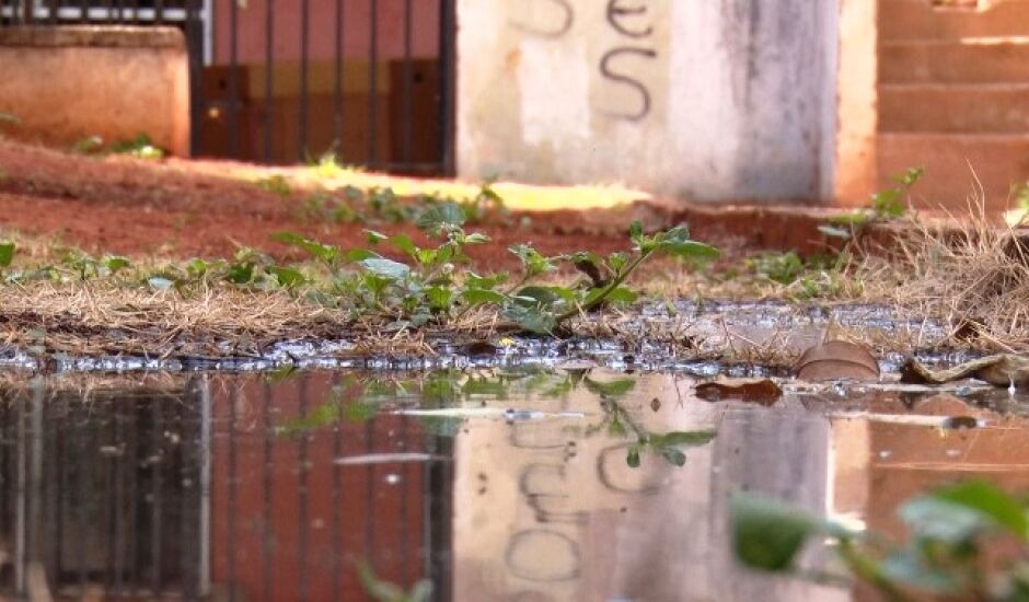
[[[925,175],[912,192],[917,206],[964,211],[982,183],[988,211],[1008,208],[1011,184],[1029,181],[1029,135],[880,134],[878,187],[916,165]]]

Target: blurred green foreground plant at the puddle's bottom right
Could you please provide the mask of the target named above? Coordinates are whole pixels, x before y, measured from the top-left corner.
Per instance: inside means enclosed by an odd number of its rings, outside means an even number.
[[[1014,601],[1029,599],[1027,511],[1024,500],[986,483],[945,487],[900,508],[900,519],[911,532],[903,544],[750,496],[732,499],[731,516],[736,555],[753,568],[796,571],[794,562],[805,543],[830,537],[846,569],[889,600],[928,593]]]

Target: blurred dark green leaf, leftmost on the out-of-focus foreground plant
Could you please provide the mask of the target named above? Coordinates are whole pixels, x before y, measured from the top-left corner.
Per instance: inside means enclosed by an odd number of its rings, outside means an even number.
[[[729,516],[737,559],[768,571],[789,569],[807,539],[822,531],[807,512],[743,494],[729,500]]]

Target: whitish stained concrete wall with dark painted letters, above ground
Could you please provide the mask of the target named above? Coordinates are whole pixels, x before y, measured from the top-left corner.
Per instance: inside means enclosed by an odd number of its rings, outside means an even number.
[[[826,199],[835,2],[458,0],[465,177]]]

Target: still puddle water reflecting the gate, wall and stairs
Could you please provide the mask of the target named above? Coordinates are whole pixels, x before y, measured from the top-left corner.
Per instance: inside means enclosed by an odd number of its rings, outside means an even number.
[[[695,383],[600,369],[11,381],[0,594],[372,600],[392,583],[441,601],[843,601],[847,587],[739,567],[729,497],[900,534],[898,505],[956,477],[1029,489],[1020,395],[787,387],[766,406],[701,401]]]

